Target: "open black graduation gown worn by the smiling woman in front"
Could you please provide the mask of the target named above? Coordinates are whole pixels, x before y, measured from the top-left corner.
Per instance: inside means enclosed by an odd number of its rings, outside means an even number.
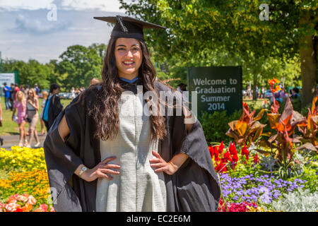
[[[155,82],[157,92],[170,88]],[[83,106],[94,100],[95,90],[88,91]],[[72,103],[76,102],[76,97]],[[86,182],[73,174],[78,165],[93,168],[101,161],[100,141],[93,137],[95,124],[88,117],[82,101],[64,109],[54,121],[44,143],[49,184],[56,211],[95,211],[97,179]],[[70,134],[65,142],[57,126],[66,117]],[[167,211],[216,211],[220,198],[220,185],[213,167],[204,131],[196,120],[187,133],[184,115],[165,117],[167,136],[160,141],[159,153],[165,161],[178,153],[189,158],[173,175],[165,174]]]

